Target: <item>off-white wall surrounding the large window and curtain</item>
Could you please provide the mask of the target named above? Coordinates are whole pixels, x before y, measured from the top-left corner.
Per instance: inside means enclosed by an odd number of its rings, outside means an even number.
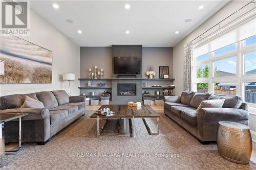
[[[201,26],[199,26],[195,31],[186,36],[183,40],[181,40],[177,45],[174,46],[174,56],[173,56],[173,65],[174,65],[174,84],[176,95],[180,95],[183,90],[183,59],[184,59],[184,45],[189,41],[193,40],[197,36],[201,35],[203,32],[216,25],[222,19],[231,15],[233,12],[237,11],[250,1],[231,1],[225,7],[223,7],[220,11],[210,17],[207,21],[205,21]],[[256,141],[256,126],[254,125],[256,122],[256,115],[250,114],[249,125],[250,130],[252,131],[252,138]]]

